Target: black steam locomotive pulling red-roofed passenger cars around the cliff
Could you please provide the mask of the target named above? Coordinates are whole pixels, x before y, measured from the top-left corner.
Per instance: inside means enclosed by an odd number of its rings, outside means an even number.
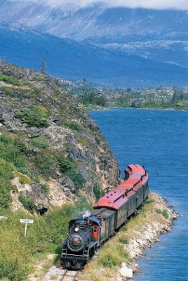
[[[144,166],[129,164],[125,178],[114,190],[108,190],[88,216],[69,221],[67,238],[62,243],[60,264],[63,268],[79,270],[92,259],[128,218],[137,213],[148,197],[148,174]]]

